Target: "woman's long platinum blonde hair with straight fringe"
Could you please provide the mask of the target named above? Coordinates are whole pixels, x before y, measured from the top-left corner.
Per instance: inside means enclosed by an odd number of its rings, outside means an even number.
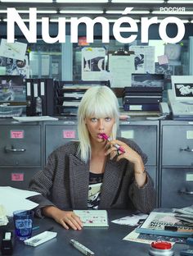
[[[116,138],[119,126],[119,103],[114,92],[107,86],[93,86],[83,94],[78,110],[79,153],[83,162],[91,156],[91,143],[85,118],[114,118],[112,139]]]

